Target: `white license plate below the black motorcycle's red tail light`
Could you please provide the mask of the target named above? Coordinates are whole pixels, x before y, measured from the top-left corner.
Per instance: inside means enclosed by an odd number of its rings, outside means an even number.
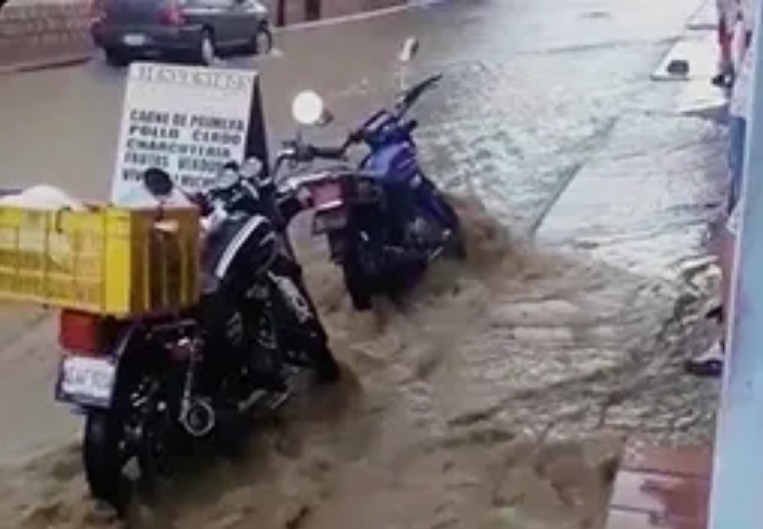
[[[109,359],[66,356],[60,366],[58,400],[108,407],[115,380],[116,367]]]

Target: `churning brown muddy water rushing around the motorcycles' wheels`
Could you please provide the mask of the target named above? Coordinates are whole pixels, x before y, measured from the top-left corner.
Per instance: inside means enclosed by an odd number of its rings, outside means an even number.
[[[460,211],[470,264],[440,264],[407,306],[374,318],[352,313],[325,249],[303,245],[345,380],[304,388],[248,454],[164,484],[129,526],[597,528],[627,435],[708,435],[711,414],[692,405],[707,388],[677,376],[686,323],[671,318],[679,298],[697,299],[533,249],[474,200]],[[3,372],[22,362],[2,361]],[[20,402],[48,388],[15,390]],[[79,457],[72,437],[6,466],[2,526],[111,526],[93,513]]]

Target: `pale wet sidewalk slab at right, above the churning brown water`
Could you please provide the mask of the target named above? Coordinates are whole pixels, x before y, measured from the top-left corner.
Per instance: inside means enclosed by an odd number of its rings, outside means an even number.
[[[715,46],[711,29],[688,29],[675,42],[652,74],[653,88],[612,124],[545,217],[541,240],[668,280],[706,253],[725,172],[725,98],[710,83]],[[675,60],[689,62],[689,75],[666,74]],[[634,145],[645,130],[649,141]],[[628,198],[613,201],[618,195]]]

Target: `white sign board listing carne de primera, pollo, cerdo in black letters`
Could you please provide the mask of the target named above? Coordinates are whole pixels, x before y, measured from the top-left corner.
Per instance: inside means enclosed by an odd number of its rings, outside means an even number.
[[[127,77],[111,201],[141,192],[149,167],[188,191],[244,159],[257,73],[137,62]]]

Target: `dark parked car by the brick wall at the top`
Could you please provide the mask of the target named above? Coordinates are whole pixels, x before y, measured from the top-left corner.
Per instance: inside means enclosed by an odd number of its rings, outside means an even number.
[[[106,60],[172,55],[211,64],[224,53],[268,53],[273,35],[257,0],[95,0],[91,34]]]

